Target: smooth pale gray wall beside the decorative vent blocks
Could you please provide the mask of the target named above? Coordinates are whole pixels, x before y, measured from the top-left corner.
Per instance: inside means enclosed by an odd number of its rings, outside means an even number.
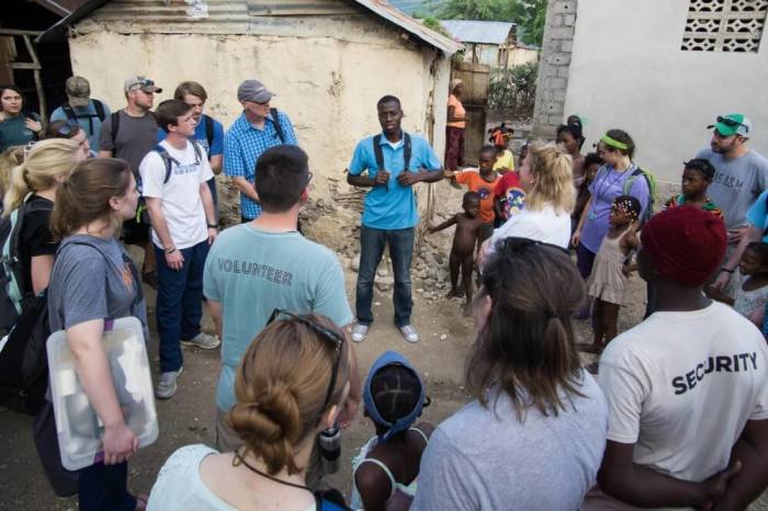
[[[679,181],[681,161],[708,146],[719,114],[750,117],[749,145],[768,154],[768,42],[759,53],[684,52],[687,1],[578,2],[564,114],[585,118],[587,146],[626,129],[636,161]]]

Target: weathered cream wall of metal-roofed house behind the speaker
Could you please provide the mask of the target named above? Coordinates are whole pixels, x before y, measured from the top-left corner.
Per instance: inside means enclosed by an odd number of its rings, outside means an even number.
[[[149,76],[163,88],[156,105],[172,96],[177,83],[197,80],[208,93],[207,113],[225,128],[241,111],[236,98],[240,81],[262,80],[278,94],[273,105],[294,123],[319,197],[332,198],[336,188],[328,178],[343,182],[355,143],[381,129],[375,103],[382,95],[400,98],[407,130],[429,136],[432,123],[445,122],[449,60],[399,37],[363,43],[327,36],[93,31],[71,38],[70,48],[75,73],[88,77],[92,95],[111,107],[124,105],[122,83],[131,73]],[[432,104],[439,105],[434,112]],[[442,157],[444,129],[433,129],[433,138]]]

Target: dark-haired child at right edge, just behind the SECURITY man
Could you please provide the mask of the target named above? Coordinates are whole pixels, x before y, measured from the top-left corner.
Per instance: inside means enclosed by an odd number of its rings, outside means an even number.
[[[754,241],[747,245],[738,262],[738,272],[744,279],[742,285],[736,287],[735,298],[711,289],[708,294],[713,299],[732,305],[738,314],[761,328],[764,307],[768,302],[768,243]]]

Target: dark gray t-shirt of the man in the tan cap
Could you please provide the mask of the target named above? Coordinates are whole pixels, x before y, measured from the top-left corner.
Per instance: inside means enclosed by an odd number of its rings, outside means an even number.
[[[112,143],[112,117],[101,125],[99,150],[112,151],[112,156],[128,162],[134,177],[138,177],[138,166],[147,152],[157,146],[157,122],[151,112],[144,117],[132,117],[124,110],[118,112],[117,136]]]

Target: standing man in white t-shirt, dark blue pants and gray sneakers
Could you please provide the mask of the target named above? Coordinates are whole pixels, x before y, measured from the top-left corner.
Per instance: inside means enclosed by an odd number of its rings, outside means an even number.
[[[160,377],[155,394],[173,396],[182,371],[180,343],[206,350],[219,341],[200,329],[203,316],[203,269],[216,239],[216,213],[207,181],[208,157],[196,141],[192,107],[163,101],[156,112],[168,137],[142,160],[142,195],[146,198],[157,256],[157,331]]]

